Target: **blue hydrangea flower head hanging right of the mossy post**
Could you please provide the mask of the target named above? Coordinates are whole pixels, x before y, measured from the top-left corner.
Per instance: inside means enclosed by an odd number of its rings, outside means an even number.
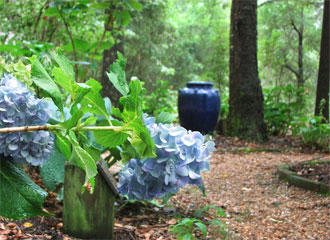
[[[200,132],[170,124],[156,124],[145,118],[155,142],[156,158],[131,159],[120,172],[118,188],[129,199],[152,200],[175,194],[187,184],[201,185],[202,171],[208,171],[214,142],[205,142]]]

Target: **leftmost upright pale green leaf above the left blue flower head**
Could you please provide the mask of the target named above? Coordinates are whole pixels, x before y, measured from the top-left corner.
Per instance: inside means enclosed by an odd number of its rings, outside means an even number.
[[[63,102],[61,91],[54,83],[53,79],[48,75],[46,69],[42,66],[36,56],[30,58],[32,63],[31,78],[32,81],[41,89],[49,94],[55,105],[63,112]]]

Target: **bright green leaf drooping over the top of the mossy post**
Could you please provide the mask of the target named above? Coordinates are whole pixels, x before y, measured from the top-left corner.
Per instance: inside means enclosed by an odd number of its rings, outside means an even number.
[[[93,181],[97,174],[95,160],[86,150],[80,147],[75,140],[72,141],[72,155],[70,162],[86,172],[84,187],[87,186],[88,182],[92,183],[91,181]]]

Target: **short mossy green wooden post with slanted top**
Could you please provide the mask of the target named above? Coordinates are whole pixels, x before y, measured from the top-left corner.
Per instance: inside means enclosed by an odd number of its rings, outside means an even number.
[[[85,172],[71,164],[65,166],[64,233],[83,239],[113,239],[114,202],[118,192],[104,161],[97,163],[99,174],[93,194],[81,193]]]

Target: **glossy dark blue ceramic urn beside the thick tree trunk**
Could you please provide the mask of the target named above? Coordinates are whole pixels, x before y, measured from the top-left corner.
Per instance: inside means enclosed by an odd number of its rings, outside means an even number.
[[[210,82],[188,82],[179,90],[180,125],[192,131],[209,133],[216,129],[220,112],[220,94]]]

